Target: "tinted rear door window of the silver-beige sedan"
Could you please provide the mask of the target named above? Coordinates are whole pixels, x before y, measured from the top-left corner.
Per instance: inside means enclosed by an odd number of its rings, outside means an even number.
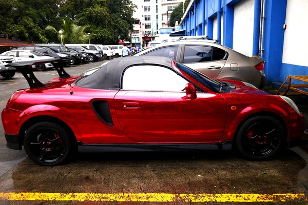
[[[185,46],[183,63],[211,61],[212,50],[207,46]]]

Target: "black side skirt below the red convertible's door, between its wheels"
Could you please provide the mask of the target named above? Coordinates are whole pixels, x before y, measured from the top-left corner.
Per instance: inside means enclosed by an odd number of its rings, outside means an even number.
[[[226,140],[223,144],[82,144],[78,142],[79,152],[179,152],[201,150],[231,150],[232,140]]]

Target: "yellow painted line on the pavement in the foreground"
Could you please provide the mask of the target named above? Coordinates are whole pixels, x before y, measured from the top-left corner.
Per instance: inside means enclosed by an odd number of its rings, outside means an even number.
[[[308,201],[307,196],[299,194],[166,194],[166,193],[40,193],[0,192],[0,200],[29,201],[145,201],[145,202],[279,202]]]

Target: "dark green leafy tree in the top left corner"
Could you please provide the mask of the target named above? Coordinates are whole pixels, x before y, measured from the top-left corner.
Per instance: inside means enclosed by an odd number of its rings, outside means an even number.
[[[38,41],[48,23],[57,24],[57,1],[0,0],[0,31],[21,40]]]

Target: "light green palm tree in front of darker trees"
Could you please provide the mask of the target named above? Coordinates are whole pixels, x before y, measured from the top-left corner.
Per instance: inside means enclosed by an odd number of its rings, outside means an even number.
[[[63,28],[61,28],[61,30],[63,31],[62,34],[63,43],[65,44],[87,43],[90,38],[90,35],[85,33],[86,28],[87,26],[78,26],[71,22],[66,22],[63,19]],[[58,36],[59,40],[61,39],[61,35],[53,26],[48,25],[46,27],[46,30],[52,31]]]

